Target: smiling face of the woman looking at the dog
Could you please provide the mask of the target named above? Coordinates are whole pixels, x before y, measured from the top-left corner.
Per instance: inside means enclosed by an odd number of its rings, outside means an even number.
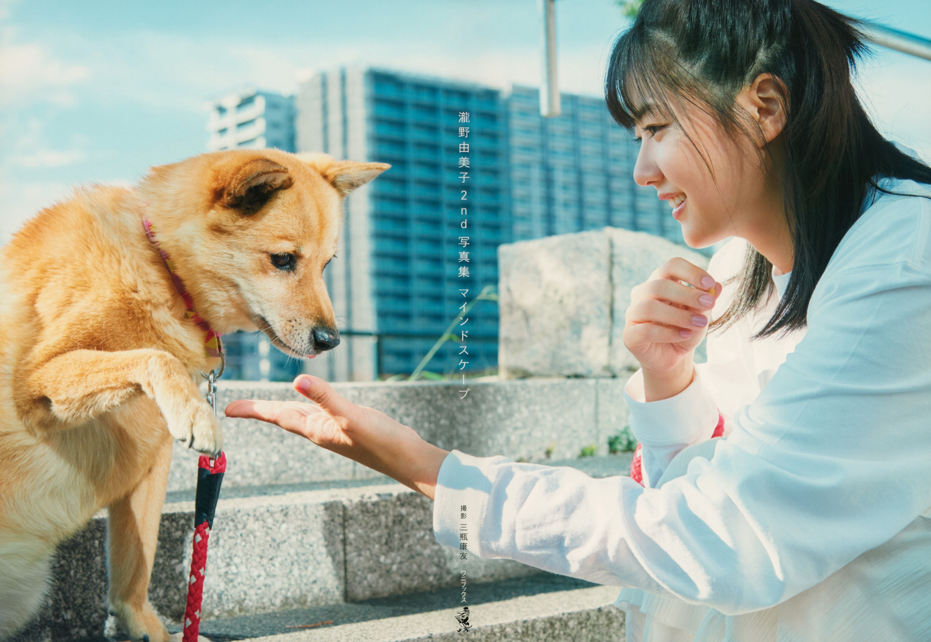
[[[738,95],[738,105],[760,122],[748,91]],[[739,135],[735,142],[714,117],[686,100],[668,104],[675,119],[658,111],[638,119],[640,152],[634,181],[655,187],[659,198],[669,203],[685,242],[708,247],[740,236],[754,246],[766,246],[767,238],[784,235],[781,188],[765,154],[761,163],[759,147]],[[772,137],[763,133],[772,140],[778,132]]]

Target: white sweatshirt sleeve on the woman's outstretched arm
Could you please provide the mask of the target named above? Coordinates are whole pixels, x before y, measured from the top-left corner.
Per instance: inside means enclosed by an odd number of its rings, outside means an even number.
[[[931,505],[927,328],[931,274],[905,262],[826,273],[807,334],[710,461],[642,488],[453,451],[439,471],[436,538],[458,547],[466,533],[481,557],[724,614],[772,607]]]

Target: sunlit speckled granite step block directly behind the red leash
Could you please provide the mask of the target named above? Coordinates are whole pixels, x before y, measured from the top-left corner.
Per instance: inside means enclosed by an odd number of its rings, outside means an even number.
[[[221,501],[210,531],[205,618],[226,618],[341,602],[344,598],[344,492],[308,491]],[[194,502],[166,507],[159,545],[163,575],[149,589],[173,622],[184,612]],[[166,524],[169,521],[169,524]],[[174,527],[174,528],[166,528]],[[168,531],[168,532],[166,532]]]

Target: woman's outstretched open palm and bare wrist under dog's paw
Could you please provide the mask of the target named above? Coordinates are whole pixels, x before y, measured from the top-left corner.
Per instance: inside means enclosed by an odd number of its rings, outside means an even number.
[[[239,399],[226,407],[226,416],[274,423],[433,499],[449,451],[384,412],[349,402],[318,377],[300,375],[294,389],[314,403]]]

